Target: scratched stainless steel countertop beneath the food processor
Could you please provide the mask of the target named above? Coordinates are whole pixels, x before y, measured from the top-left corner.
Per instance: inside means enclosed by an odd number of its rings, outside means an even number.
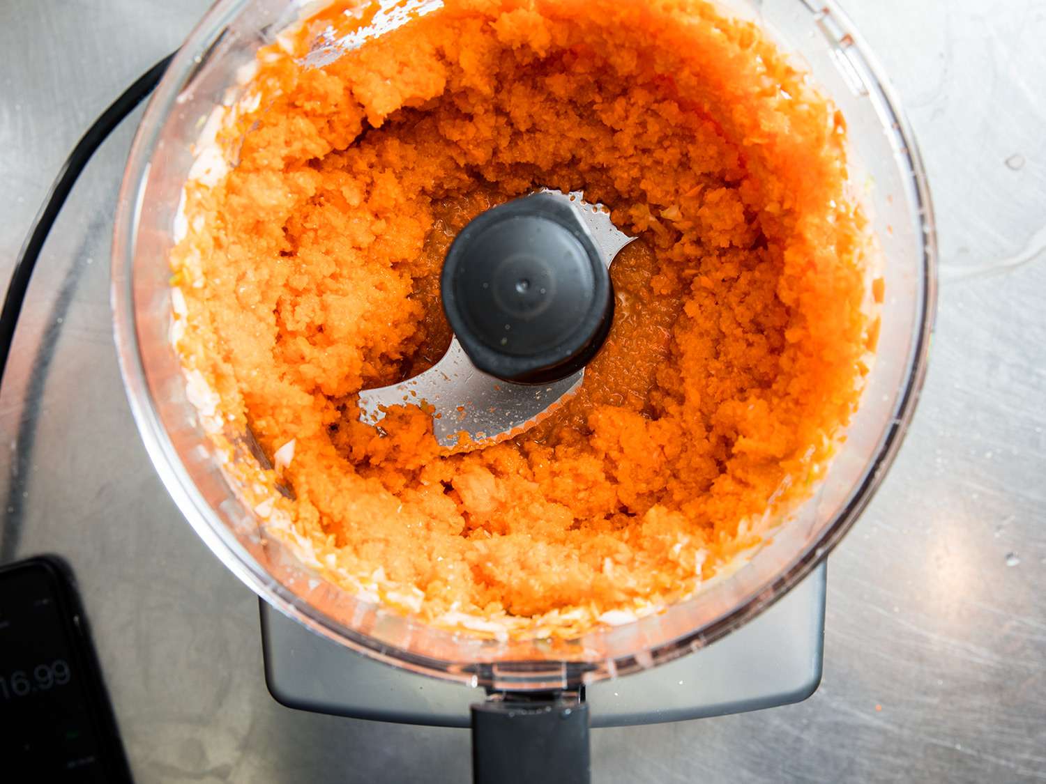
[[[0,3],[4,278],[81,132],[206,5]],[[1046,779],[1046,3],[844,5],[899,88],[937,208],[923,401],[829,559],[820,690],[771,711],[597,731],[597,782]],[[140,782],[467,781],[467,732],[274,702],[253,594],[154,475],[110,337],[133,126],[91,164],[30,290],[0,395],[0,560],[72,562]]]

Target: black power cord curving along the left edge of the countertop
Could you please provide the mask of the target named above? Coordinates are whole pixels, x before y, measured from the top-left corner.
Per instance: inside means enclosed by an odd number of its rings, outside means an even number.
[[[47,199],[40,212],[37,213],[32,228],[15,260],[15,269],[12,272],[10,283],[7,285],[7,294],[3,301],[3,310],[0,310],[0,385],[3,384],[4,372],[7,370],[7,359],[15,340],[15,328],[18,326],[18,318],[22,313],[22,303],[25,301],[25,292],[29,287],[32,270],[37,266],[37,259],[40,258],[40,252],[47,240],[47,235],[50,234],[51,227],[54,226],[54,221],[59,216],[62,206],[69,197],[73,185],[76,184],[81,172],[91,160],[91,156],[120,124],[120,121],[153,92],[174,56],[174,53],[168,54],[150,68],[116,100],[110,103],[109,108],[91,123],[87,133],[81,137],[76,146],[66,158],[65,163],[62,164],[59,176],[51,184]]]

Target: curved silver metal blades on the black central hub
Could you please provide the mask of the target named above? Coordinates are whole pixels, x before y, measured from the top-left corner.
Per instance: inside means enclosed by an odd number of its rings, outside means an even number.
[[[611,223],[601,205],[583,201],[579,191],[542,192],[563,200],[574,210],[608,269],[618,252],[635,239]],[[473,449],[525,433],[574,394],[584,377],[582,369],[548,384],[510,384],[479,370],[455,337],[442,359],[424,373],[388,387],[363,390],[360,421],[378,424],[385,418],[384,409],[424,403],[431,409],[433,435],[440,445],[454,449],[465,433],[469,438],[460,446]]]

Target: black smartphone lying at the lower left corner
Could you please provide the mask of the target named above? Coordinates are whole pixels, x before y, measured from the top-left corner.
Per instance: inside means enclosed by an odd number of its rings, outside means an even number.
[[[0,780],[131,781],[72,573],[53,556],[0,567]]]

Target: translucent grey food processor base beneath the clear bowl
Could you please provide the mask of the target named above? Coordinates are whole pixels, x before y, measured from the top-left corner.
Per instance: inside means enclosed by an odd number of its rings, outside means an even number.
[[[821,681],[825,564],[754,621],[696,653],[586,689],[592,727],[774,708]],[[482,689],[393,669],[313,633],[262,601],[269,692],[289,708],[374,721],[471,725]]]

